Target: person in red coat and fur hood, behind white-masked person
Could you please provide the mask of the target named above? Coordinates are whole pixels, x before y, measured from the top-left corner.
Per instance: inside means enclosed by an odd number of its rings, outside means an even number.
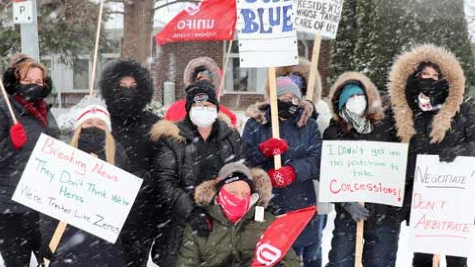
[[[183,82],[185,88],[199,80],[208,80],[217,90],[221,86],[221,70],[216,62],[209,57],[198,57],[189,61],[183,72]],[[218,94],[218,92],[216,92]],[[182,121],[186,117],[186,100],[181,99],[173,103],[165,114],[165,119],[169,121]],[[237,116],[225,106],[219,106],[221,119],[237,127]]]

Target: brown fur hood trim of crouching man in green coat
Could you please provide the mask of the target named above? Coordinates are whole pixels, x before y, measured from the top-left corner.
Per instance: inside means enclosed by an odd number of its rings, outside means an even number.
[[[254,182],[254,189],[259,194],[257,205],[267,207],[270,198],[272,197],[272,184],[269,175],[262,169],[253,168],[252,180]],[[198,185],[194,191],[194,200],[198,205],[207,206],[212,203],[216,196],[217,180],[209,180]]]

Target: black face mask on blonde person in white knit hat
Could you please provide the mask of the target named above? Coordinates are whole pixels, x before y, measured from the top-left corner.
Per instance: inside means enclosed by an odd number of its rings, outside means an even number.
[[[94,153],[97,156],[104,153],[105,131],[97,127],[81,129],[77,148],[87,154]]]

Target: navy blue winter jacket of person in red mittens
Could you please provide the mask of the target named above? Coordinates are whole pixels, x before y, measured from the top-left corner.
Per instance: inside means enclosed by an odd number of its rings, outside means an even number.
[[[270,108],[268,104],[261,104],[258,108],[262,114],[247,121],[242,139],[247,146],[248,165],[267,171],[274,168],[273,158],[266,158],[258,145],[272,137]],[[316,205],[313,179],[319,179],[322,141],[314,119],[309,119],[303,127],[297,126],[300,116],[301,110],[293,119],[281,120],[279,123],[280,138],[285,139],[289,145],[288,151],[281,155],[282,167],[290,165],[296,172],[293,184],[272,190],[274,196],[271,205],[278,207],[280,214]],[[307,246],[317,241],[316,218],[315,215],[294,246]]]

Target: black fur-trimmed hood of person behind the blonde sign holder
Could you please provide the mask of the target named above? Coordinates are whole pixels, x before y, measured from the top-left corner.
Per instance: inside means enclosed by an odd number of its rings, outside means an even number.
[[[140,94],[139,108],[143,109],[146,104],[150,103],[153,97],[153,79],[150,71],[143,67],[140,63],[133,60],[118,59],[105,67],[99,81],[100,93],[105,99],[107,106],[113,105],[116,88],[119,86],[120,79],[126,76],[132,76],[137,82],[137,90]]]

